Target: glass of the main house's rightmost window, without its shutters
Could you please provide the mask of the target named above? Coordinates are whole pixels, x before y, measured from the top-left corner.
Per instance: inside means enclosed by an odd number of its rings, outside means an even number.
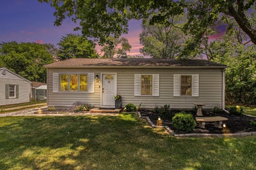
[[[191,75],[180,76],[180,96],[191,96]]]

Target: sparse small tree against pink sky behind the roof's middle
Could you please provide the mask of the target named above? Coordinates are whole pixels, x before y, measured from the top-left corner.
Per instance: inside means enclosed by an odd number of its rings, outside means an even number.
[[[115,38],[109,36],[107,39],[108,43],[101,49],[101,52],[104,52],[104,57],[113,58],[115,54],[119,58],[123,53],[130,52],[132,46],[129,44],[128,40],[124,37],[122,38]],[[120,48],[117,48],[121,44]]]

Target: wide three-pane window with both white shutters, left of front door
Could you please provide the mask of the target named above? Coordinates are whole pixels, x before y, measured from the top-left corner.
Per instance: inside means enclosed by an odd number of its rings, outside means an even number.
[[[94,92],[94,73],[53,73],[53,92]]]

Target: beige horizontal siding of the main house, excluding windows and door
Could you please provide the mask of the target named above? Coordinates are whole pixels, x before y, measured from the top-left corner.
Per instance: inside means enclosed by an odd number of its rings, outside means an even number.
[[[144,108],[170,104],[171,108],[192,108],[194,103],[204,103],[204,108],[222,107],[222,69],[48,69],[47,100],[49,106],[71,106],[77,100],[94,106],[101,104],[101,83],[95,82],[93,94],[52,92],[52,73],[117,73],[117,94],[121,94],[123,107],[128,103]],[[159,74],[159,96],[134,96],[134,74]],[[173,97],[173,74],[199,74],[199,97]]]

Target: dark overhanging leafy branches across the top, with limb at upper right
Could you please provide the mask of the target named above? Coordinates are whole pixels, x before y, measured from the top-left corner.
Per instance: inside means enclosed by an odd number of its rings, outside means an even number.
[[[172,24],[168,19],[173,15],[186,14],[187,23],[183,30],[193,35],[186,42],[184,55],[190,54],[201,45],[207,28],[214,25],[221,15],[227,14],[235,19],[239,27],[256,44],[255,0],[205,0],[205,1],[73,1],[73,0],[38,0],[51,3],[55,7],[55,25],[61,25],[66,17],[74,22],[79,21],[84,36],[106,43],[107,37],[121,36],[128,31],[128,21],[131,19],[149,19],[150,24]],[[152,17],[151,17],[152,16]]]

